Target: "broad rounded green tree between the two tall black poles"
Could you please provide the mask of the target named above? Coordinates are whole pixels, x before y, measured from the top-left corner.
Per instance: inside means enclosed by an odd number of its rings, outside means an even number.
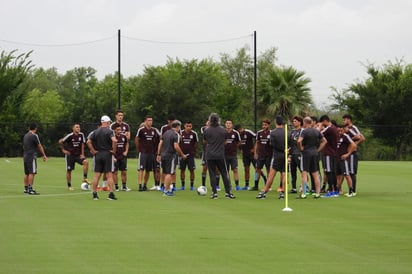
[[[163,123],[170,113],[181,120],[203,124],[211,111],[220,110],[219,99],[228,89],[220,67],[211,60],[173,60],[149,66],[138,81],[134,104],[141,119],[154,115]]]

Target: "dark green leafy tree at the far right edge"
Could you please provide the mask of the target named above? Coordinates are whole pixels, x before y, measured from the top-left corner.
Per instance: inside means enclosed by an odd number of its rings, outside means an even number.
[[[395,158],[412,143],[412,65],[403,61],[368,65],[368,78],[332,96],[336,106],[370,125],[374,138],[395,148]]]

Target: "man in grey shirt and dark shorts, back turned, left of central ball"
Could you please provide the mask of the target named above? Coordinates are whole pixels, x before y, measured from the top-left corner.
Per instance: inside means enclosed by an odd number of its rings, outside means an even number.
[[[172,175],[176,172],[177,156],[179,155],[183,160],[187,157],[183,154],[179,146],[180,136],[179,131],[181,122],[174,120],[171,123],[171,129],[166,131],[160,139],[159,147],[157,149],[157,162],[162,165],[162,172],[164,179],[164,196],[174,196],[171,188]],[[177,153],[177,154],[176,154]]]

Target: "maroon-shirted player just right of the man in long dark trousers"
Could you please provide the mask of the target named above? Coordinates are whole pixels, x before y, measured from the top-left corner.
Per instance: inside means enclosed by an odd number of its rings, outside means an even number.
[[[226,128],[226,143],[225,143],[225,162],[226,168],[233,171],[233,179],[235,180],[236,190],[240,190],[239,172],[237,161],[237,150],[240,146],[240,135],[237,130],[233,129],[232,120],[228,119],[225,122]]]

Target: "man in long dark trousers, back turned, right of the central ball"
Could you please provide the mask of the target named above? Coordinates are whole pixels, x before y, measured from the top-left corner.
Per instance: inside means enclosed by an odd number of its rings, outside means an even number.
[[[209,116],[209,127],[203,132],[203,142],[206,144],[206,161],[209,169],[210,185],[212,187],[211,199],[217,199],[216,169],[222,175],[225,186],[225,197],[236,198],[230,191],[229,174],[225,164],[226,130],[220,126],[220,118],[216,113]]]

